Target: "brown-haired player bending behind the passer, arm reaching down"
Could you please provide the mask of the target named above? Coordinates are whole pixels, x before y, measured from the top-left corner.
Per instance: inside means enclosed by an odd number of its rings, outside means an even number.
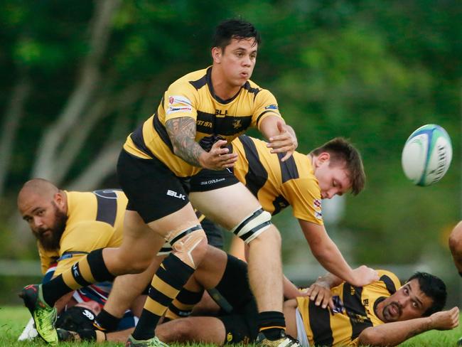
[[[232,141],[230,149],[237,154],[233,168],[235,176],[257,196],[264,210],[276,214],[287,206],[292,206],[294,217],[299,220],[311,252],[328,272],[359,287],[378,278],[375,270],[368,267],[353,271],[323,225],[321,199],[349,191],[357,194],[364,187],[365,173],[360,154],[354,146],[345,139],[336,138],[308,155],[295,151],[284,162],[279,160],[280,154],[271,153],[266,142],[252,137],[240,136]],[[213,186],[216,182],[228,179],[215,171],[215,179],[208,180],[212,173],[203,169],[191,178],[191,186]],[[205,193],[213,194],[213,191]],[[190,193],[190,200],[208,212],[210,204],[196,201],[196,194]],[[224,215],[228,213],[229,211],[223,210]],[[139,280],[142,281],[143,279]],[[294,287],[286,281],[286,297],[291,295],[290,290],[294,290]],[[116,297],[117,292],[123,293],[124,297]],[[104,331],[114,330],[117,317],[122,317],[127,305],[140,294],[129,285],[117,292],[111,294],[104,308],[111,319],[106,319],[107,322],[98,319]],[[297,291],[294,290],[293,295],[296,294]]]

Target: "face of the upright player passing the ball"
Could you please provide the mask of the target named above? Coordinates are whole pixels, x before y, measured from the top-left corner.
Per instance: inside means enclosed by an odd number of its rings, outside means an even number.
[[[220,66],[222,75],[229,85],[241,87],[249,80],[257,61],[257,48],[258,44],[254,38],[232,38],[224,50],[213,48],[214,62]]]

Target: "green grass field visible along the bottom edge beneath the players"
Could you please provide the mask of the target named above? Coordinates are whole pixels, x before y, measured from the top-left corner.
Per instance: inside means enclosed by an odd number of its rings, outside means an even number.
[[[42,341],[18,342],[17,338],[29,319],[29,312],[24,307],[3,306],[0,307],[0,347],[6,346],[45,346]],[[416,336],[400,346],[405,347],[449,347],[456,346],[456,341],[462,336],[462,329],[452,331],[428,331]],[[60,346],[97,346],[95,343],[61,343]],[[104,346],[124,346],[123,343],[105,343]],[[204,345],[189,345],[204,346]]]

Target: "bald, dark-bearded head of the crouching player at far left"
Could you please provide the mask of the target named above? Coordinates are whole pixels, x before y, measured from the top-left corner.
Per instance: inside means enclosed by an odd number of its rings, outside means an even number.
[[[45,250],[56,250],[68,216],[55,201],[30,194],[18,203],[19,212]]]

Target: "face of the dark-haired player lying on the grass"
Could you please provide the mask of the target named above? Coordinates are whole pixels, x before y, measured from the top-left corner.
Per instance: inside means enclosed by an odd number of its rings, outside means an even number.
[[[412,279],[384,300],[382,316],[385,323],[406,321],[424,315],[432,299],[421,292],[418,279]]]

